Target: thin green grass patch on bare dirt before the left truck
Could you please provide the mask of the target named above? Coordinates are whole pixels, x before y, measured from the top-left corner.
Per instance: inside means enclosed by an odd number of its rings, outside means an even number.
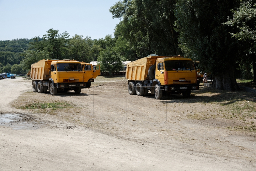
[[[21,109],[64,109],[64,108],[74,108],[73,105],[67,102],[56,102],[56,103],[31,103],[22,107]]]

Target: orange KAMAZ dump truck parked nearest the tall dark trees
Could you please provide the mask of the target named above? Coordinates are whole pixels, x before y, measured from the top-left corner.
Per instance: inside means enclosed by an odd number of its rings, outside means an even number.
[[[162,91],[190,97],[191,90],[198,90],[197,71],[193,61],[182,56],[158,56],[135,60],[127,64],[126,79],[130,95],[144,96],[150,90],[156,99]]]

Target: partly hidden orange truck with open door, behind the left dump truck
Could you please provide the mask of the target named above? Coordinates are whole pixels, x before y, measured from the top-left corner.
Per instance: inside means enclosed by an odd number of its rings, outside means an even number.
[[[84,71],[84,84],[88,88],[91,86],[91,82],[94,82],[94,79],[101,74],[100,65],[92,65],[84,62],[81,62],[81,64]]]

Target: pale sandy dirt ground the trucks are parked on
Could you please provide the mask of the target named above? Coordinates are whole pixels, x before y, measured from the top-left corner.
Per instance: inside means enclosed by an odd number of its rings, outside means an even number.
[[[256,169],[254,133],[227,129],[234,123],[225,119],[186,117],[206,106],[196,93],[155,100],[130,96],[126,81],[92,86],[51,96],[33,93],[31,80],[0,80],[0,116],[15,121],[0,124],[0,170]],[[75,107],[17,108],[58,101]]]

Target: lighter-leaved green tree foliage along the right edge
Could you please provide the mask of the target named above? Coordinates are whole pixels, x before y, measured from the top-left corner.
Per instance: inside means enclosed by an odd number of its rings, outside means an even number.
[[[253,4],[254,2],[254,4]],[[238,28],[238,32],[231,32],[232,37],[236,38],[245,49],[247,58],[241,59],[243,68],[248,68],[250,63],[253,68],[253,79],[256,81],[256,1],[242,1],[238,8],[231,9],[233,13],[232,17],[228,17],[228,21],[225,25]],[[247,65],[244,65],[247,64]],[[241,65],[241,64],[240,64]],[[247,67],[245,67],[247,66]],[[246,70],[242,70],[244,73]],[[244,74],[250,74],[248,71]]]

